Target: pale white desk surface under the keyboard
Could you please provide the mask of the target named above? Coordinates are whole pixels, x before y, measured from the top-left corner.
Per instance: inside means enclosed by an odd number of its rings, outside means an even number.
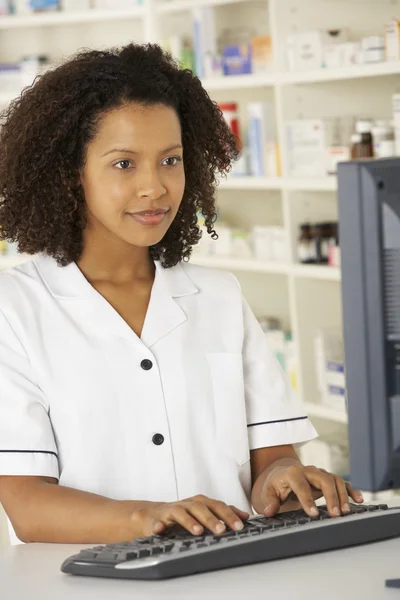
[[[85,546],[0,548],[2,600],[390,600],[400,590],[400,539],[165,581],[65,575],[63,560]],[[87,546],[86,546],[87,547]]]

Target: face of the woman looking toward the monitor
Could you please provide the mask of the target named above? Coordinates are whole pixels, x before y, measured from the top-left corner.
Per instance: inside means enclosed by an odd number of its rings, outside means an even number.
[[[81,172],[89,235],[131,246],[162,240],[185,189],[181,127],[164,105],[130,104],[104,115]]]

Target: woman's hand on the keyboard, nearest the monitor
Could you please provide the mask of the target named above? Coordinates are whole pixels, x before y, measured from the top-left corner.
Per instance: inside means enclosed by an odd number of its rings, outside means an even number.
[[[290,501],[293,500],[300,503],[310,517],[316,517],[319,513],[315,500],[322,496],[331,517],[350,512],[349,496],[357,504],[364,501],[361,493],[341,477],[324,469],[296,463],[277,466],[269,473],[262,490],[264,514],[273,517],[284,503],[292,504]],[[291,508],[288,506],[288,510]]]

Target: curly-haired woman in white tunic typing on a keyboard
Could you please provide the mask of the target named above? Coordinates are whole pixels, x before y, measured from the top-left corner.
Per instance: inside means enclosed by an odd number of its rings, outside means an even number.
[[[157,46],[85,51],[3,116],[0,501],[22,541],[106,543],[255,511],[332,516],[358,491],[303,466],[316,436],[215,237],[235,140]]]

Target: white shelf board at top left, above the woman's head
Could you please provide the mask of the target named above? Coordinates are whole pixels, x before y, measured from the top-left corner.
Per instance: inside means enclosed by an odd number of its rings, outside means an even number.
[[[143,6],[116,10],[54,11],[33,15],[5,15],[0,17],[0,29],[21,27],[45,27],[50,25],[71,25],[79,23],[98,23],[100,21],[119,21],[144,17]]]

